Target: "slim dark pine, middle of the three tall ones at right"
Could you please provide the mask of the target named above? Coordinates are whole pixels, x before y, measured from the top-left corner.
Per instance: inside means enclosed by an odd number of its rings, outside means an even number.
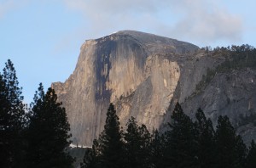
[[[212,120],[205,116],[202,109],[195,114],[196,141],[198,142],[198,160],[201,168],[215,167],[215,141]]]

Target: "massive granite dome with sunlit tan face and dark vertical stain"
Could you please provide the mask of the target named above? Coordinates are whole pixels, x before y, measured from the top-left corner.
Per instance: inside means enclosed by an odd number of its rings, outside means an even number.
[[[181,63],[197,49],[138,31],[84,42],[73,74],[52,84],[67,109],[74,143],[90,145],[98,137],[109,103],[121,126],[134,116],[150,131],[159,128],[181,79]]]

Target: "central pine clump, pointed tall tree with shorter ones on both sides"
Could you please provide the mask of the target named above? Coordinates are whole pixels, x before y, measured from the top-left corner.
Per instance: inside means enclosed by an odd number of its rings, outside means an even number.
[[[125,142],[123,141],[125,139]],[[119,127],[119,117],[109,105],[106,124],[98,140],[84,154],[82,168],[150,167],[151,135],[146,126],[137,126],[135,118],[127,123],[125,134]]]

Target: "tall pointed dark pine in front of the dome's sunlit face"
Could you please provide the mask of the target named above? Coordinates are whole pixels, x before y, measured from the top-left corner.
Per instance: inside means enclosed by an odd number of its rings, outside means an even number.
[[[119,117],[116,115],[116,110],[113,104],[109,104],[104,131],[98,139],[100,146],[99,162],[101,167],[124,167],[124,143],[119,125]]]

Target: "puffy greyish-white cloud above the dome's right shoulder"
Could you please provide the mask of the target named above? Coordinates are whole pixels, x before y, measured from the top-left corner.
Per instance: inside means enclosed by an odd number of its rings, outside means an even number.
[[[172,27],[178,36],[188,36],[199,42],[241,40],[241,18],[230,14],[217,3],[202,0],[184,0],[178,8],[186,10],[183,20]]]

